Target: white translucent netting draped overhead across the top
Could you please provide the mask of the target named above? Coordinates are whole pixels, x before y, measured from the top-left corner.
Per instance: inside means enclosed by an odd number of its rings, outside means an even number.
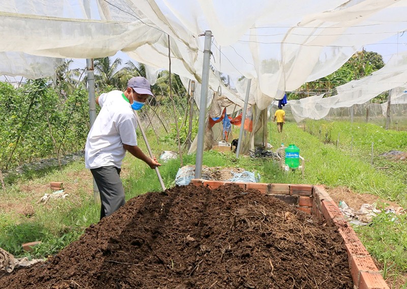
[[[211,30],[211,65],[237,88],[241,76],[254,78],[251,103],[264,109],[285,91],[334,72],[363,45],[406,30],[406,12],[407,0],[2,0],[0,52],[94,58],[122,50],[168,69],[169,35],[171,71],[199,82],[199,35]],[[38,77],[23,69],[26,60],[16,60],[13,70],[3,57],[5,74]],[[210,87],[218,86],[213,74]],[[242,104],[244,94],[224,91]]]

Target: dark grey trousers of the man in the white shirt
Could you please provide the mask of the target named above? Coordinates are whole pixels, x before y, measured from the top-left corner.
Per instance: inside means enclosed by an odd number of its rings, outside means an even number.
[[[115,166],[92,168],[91,172],[99,189],[101,209],[100,219],[111,215],[125,204],[121,169]]]

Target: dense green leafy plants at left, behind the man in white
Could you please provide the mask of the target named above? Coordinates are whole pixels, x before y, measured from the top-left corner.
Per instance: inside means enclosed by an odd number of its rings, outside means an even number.
[[[0,103],[1,169],[83,149],[89,131],[85,90],[64,96],[47,79],[18,89],[0,82]]]

